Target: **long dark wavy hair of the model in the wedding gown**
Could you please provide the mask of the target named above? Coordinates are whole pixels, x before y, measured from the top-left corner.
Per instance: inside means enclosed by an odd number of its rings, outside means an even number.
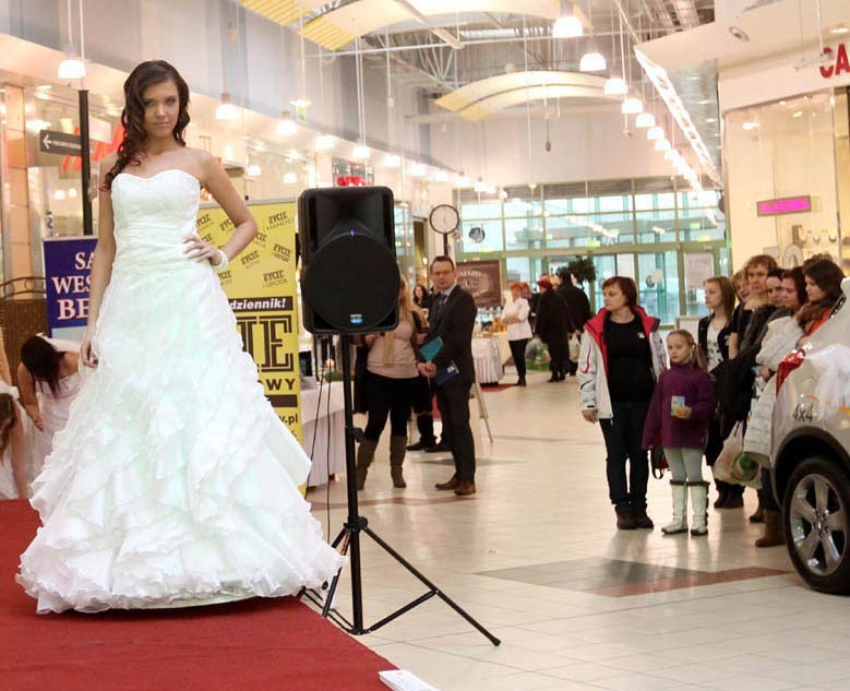
[[[154,84],[173,82],[180,100],[180,112],[177,116],[177,124],[171,134],[175,141],[185,146],[183,130],[189,124],[189,85],[180,72],[165,60],[148,60],[142,62],[130,72],[124,82],[124,109],[121,111],[121,124],[124,126],[124,141],[118,147],[118,160],[104,177],[104,187],[108,190],[112,187],[112,180],[128,165],[139,158],[144,151],[147,139],[145,132],[145,105],[143,94]]]

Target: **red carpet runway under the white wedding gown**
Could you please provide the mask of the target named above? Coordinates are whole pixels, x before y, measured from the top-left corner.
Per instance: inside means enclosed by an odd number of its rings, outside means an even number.
[[[0,501],[2,691],[386,691],[393,665],[292,598],[36,615],[14,573],[37,526]]]

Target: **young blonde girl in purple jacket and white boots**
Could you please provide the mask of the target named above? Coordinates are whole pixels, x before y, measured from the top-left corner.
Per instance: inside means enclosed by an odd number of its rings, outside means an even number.
[[[670,369],[661,373],[644,426],[644,448],[660,443],[670,466],[673,521],[665,535],[687,532],[687,493],[694,519],[691,535],[707,535],[708,482],[703,480],[703,450],[715,412],[715,393],[705,355],[687,331],[667,337]]]

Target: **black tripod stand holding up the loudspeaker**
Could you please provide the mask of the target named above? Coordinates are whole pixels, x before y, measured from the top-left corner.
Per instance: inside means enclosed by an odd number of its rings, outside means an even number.
[[[359,507],[357,502],[357,480],[356,480],[356,460],[355,460],[355,441],[362,436],[360,429],[355,427],[354,424],[354,405],[351,401],[351,339],[350,336],[340,336],[340,348],[343,350],[343,400],[345,406],[345,465],[346,465],[346,489],[348,492],[348,519],[333,541],[333,547],[336,548],[342,543],[342,553],[348,556],[348,568],[351,572],[351,613],[354,621],[348,621],[345,617],[337,611],[332,611],[331,607],[334,599],[334,593],[339,583],[339,576],[337,573],[331,581],[327,593],[324,597],[324,606],[322,608],[322,616],[331,619],[348,633],[360,635],[363,633],[371,633],[376,631],[384,624],[390,623],[394,619],[400,617],[405,612],[410,611],[414,607],[418,607],[422,603],[436,596],[442,599],[446,605],[454,609],[460,617],[466,619],[472,627],[481,632],[493,644],[499,645],[501,641],[496,639],[492,633],[484,629],[478,621],[476,621],[469,613],[467,613],[459,605],[452,600],[445,593],[443,593],[433,582],[426,577],[419,570],[417,570],[410,562],[402,557],[395,549],[393,549],[385,540],[383,540],[372,528],[369,527],[369,522],[366,517],[359,514]],[[428,591],[409,601],[404,607],[396,609],[394,612],[387,615],[380,621],[373,623],[370,627],[363,626],[363,593],[362,593],[362,579],[360,573],[360,534],[366,534],[368,537],[378,544],[386,553],[395,559],[402,567],[404,567],[410,574],[423,583]],[[312,601],[318,603],[316,599],[310,598]]]

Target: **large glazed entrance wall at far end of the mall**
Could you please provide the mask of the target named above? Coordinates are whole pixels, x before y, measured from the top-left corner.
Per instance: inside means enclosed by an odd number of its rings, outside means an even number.
[[[696,314],[705,309],[694,291],[685,294],[680,279],[685,251],[680,243],[711,253],[715,273],[726,270],[718,264],[726,261],[726,224],[714,191],[679,191],[665,177],[547,184],[522,194],[520,188],[508,190],[501,206],[471,194],[459,198],[464,218],[460,261],[488,252],[502,259],[506,275],[534,281],[552,266],[591,257],[597,281],[586,288],[594,309],[602,306],[606,278],[631,276],[641,299],[668,325],[682,310]],[[475,243],[469,238],[474,228],[484,233]]]

